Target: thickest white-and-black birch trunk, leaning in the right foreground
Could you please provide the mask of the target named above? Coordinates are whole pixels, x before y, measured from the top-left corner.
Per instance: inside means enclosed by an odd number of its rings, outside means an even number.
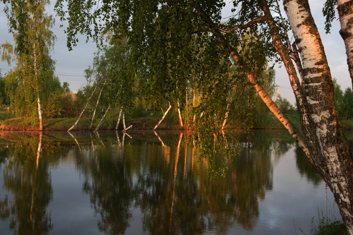
[[[348,233],[353,235],[353,159],[337,115],[334,87],[324,47],[309,2],[287,0],[283,5],[303,62],[307,106],[322,153],[321,159],[317,161],[323,161],[326,165],[330,176],[327,184],[333,189]]]

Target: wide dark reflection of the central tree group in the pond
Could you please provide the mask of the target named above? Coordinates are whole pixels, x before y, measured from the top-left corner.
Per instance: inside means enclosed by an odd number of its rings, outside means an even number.
[[[263,136],[249,145],[245,138],[225,178],[210,181],[208,160],[198,164],[195,147],[187,147],[193,146],[190,136],[182,141],[178,134],[174,144],[165,144],[155,135],[160,145],[106,145],[79,161],[84,192],[102,216],[100,231],[124,234],[133,207],[142,212],[143,230],[150,234],[226,233],[235,223],[251,231],[259,217],[258,201],[272,189],[271,153],[281,157],[292,146],[261,141]]]

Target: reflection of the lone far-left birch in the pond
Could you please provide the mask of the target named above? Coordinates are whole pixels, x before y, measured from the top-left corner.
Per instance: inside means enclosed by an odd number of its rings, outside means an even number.
[[[4,161],[4,185],[13,197],[0,198],[0,218],[10,218],[13,234],[48,234],[53,228],[46,211],[53,199],[49,161],[62,154],[58,146],[42,142],[43,133],[20,139]],[[9,199],[11,198],[11,199]]]

